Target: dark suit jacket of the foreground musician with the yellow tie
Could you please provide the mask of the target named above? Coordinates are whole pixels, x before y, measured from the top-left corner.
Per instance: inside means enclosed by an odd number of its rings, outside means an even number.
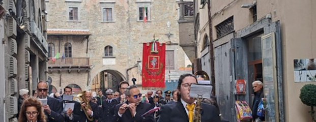
[[[202,122],[220,122],[218,109],[210,104],[202,103]],[[166,104],[161,107],[158,122],[188,122],[189,117],[181,102]]]

